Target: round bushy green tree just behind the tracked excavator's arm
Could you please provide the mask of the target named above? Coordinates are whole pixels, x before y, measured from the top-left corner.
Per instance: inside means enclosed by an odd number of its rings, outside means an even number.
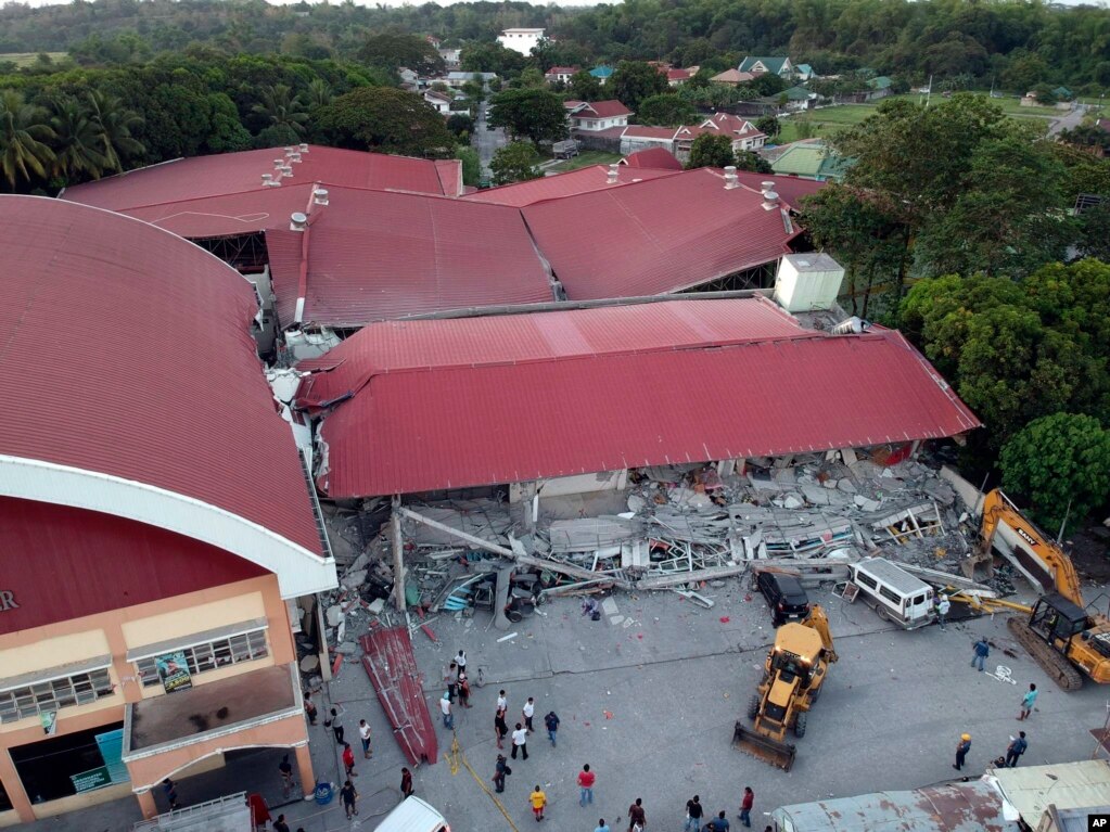
[[[1002,487],[1029,498],[1030,514],[1052,534],[1076,528],[1110,494],[1110,430],[1090,416],[1033,419],[1002,447]]]

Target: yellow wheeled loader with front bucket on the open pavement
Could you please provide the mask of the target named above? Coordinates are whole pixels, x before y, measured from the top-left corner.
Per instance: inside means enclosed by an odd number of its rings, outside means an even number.
[[[828,618],[814,605],[798,623],[785,623],[775,633],[763,681],[748,703],[751,728],[736,722],[733,744],[745,753],[789,771],[796,749],[786,732],[806,734],[806,714],[820,696],[829,664],[837,660]]]

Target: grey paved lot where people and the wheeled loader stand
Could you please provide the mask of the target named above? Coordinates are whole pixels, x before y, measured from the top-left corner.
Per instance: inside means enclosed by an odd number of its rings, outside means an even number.
[[[637,797],[644,799],[652,828],[677,830],[694,793],[714,814],[728,810],[735,823],[745,785],[755,790],[753,821],[761,830],[767,822],[763,813],[779,805],[946,781],[956,773],[953,749],[963,731],[972,734],[972,777],[1005,751],[1017,728],[1029,734],[1025,764],[1087,759],[1094,748],[1089,730],[1106,719],[1104,691],[1087,684],[1077,693],[1061,693],[1012,642],[1002,617],[953,622],[947,632],[936,627],[902,632],[886,627],[869,608],[814,595],[829,612],[840,661],[810,713],[806,737],[797,740],[794,770],[786,773],[730,744],[733,724],[758,682],[774,638],[766,605],[759,596],[750,598],[736,579],[704,593],[716,601],[714,609],[670,593],[618,593],[617,613],[599,622],[583,619],[577,601],[558,600],[541,608],[545,616],[517,625],[517,636],[501,643],[496,639],[503,633],[487,629],[485,613],[463,621],[440,618],[432,625],[438,643],[417,630],[416,658],[428,680],[425,692],[433,713],[442,693],[435,680],[457,648],[467,651],[472,678],[481,667],[487,681],[475,690],[474,708],[457,712],[461,757],[418,769],[416,793],[456,830],[509,829],[483,790],[497,753],[493,711],[500,688],[508,693],[511,717],[532,696],[537,728],[548,710],[558,713],[562,727],[557,748],[549,747],[542,731],[533,737],[531,759],[511,761],[513,775],[505,793],[496,797],[518,829],[531,828],[535,821],[527,795],[538,783],[549,800],[545,826],[568,832],[589,832],[603,816],[617,829],[615,821],[626,816]],[[979,635],[996,645],[988,671],[1002,664],[1015,683],[969,667]],[[1031,721],[1018,726],[1018,703],[1030,681],[1042,694]],[[360,762],[357,783],[363,804],[359,821],[373,829],[400,799],[400,767],[405,763],[357,664],[344,666],[332,697],[345,702],[349,724],[365,716],[377,738],[374,760]],[[437,716],[435,723],[442,755],[451,750],[452,737]],[[317,775],[334,779],[334,742],[323,729],[314,730]],[[596,802],[588,809],[578,806],[575,785],[585,762],[597,773]],[[336,808],[290,809],[294,829],[346,828]]]

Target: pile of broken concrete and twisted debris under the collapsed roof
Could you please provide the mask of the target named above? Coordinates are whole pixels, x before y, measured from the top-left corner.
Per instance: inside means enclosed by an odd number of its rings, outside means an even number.
[[[623,491],[541,497],[535,505],[504,494],[406,505],[400,516],[412,629],[434,638],[426,627],[434,619],[425,617],[473,615],[514,597],[614,588],[686,593],[753,564],[838,581],[847,561],[877,555],[957,580],[977,518],[936,469],[884,463],[851,450],[815,453],[749,459],[743,474],[724,477],[706,465],[643,468],[629,471]],[[605,510],[587,516],[584,506]],[[370,628],[401,621],[389,600],[389,508],[367,500],[331,513],[345,570],[327,598],[325,636],[341,656],[353,655]],[[497,580],[501,572],[508,579]],[[1013,589],[1005,568],[989,585],[999,595]],[[495,586],[503,596],[496,605]]]

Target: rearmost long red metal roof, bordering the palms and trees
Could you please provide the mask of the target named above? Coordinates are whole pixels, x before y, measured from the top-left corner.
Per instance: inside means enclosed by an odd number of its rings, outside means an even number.
[[[283,148],[269,148],[178,159],[69,187],[62,197],[128,212],[140,205],[259,192],[263,190],[262,174],[274,173],[274,160],[284,156]],[[299,164],[292,165],[293,176],[282,180],[282,187],[322,182],[448,196],[457,195],[461,189],[462,169],[457,161],[434,162],[319,145],[311,145],[301,159]]]

